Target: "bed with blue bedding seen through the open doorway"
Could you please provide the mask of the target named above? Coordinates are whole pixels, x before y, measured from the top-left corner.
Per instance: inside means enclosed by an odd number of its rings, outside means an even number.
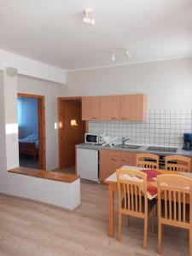
[[[24,155],[32,155],[33,161],[36,161],[38,155],[38,135],[31,135],[19,139],[19,152]]]

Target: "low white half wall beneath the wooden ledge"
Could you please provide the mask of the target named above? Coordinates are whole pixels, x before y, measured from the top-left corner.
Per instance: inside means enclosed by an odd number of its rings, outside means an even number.
[[[80,205],[80,178],[73,183],[8,172],[9,195],[42,201],[73,210]]]

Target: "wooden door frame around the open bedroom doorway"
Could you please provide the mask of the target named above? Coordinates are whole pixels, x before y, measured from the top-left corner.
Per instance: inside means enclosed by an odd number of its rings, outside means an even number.
[[[46,170],[46,135],[45,135],[45,97],[41,95],[18,93],[17,96],[38,99],[38,161],[39,169]]]

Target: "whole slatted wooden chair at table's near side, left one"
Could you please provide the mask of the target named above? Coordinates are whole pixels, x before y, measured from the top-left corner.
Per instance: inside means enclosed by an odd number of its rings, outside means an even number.
[[[118,241],[121,241],[121,217],[133,216],[144,219],[143,248],[147,247],[148,214],[152,212],[152,230],[154,230],[154,205],[156,199],[148,201],[147,174],[137,170],[119,169],[116,171],[119,200]],[[129,179],[125,178],[129,175]]]

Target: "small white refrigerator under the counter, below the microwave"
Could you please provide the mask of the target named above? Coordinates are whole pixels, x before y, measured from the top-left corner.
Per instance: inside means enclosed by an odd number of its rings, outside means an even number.
[[[99,183],[99,151],[77,148],[77,174],[80,178]]]

